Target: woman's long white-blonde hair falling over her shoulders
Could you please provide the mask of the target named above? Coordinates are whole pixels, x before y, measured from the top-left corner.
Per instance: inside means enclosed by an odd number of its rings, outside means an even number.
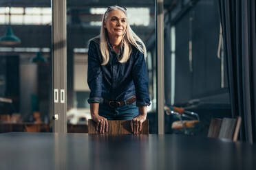
[[[107,19],[107,16],[109,15],[109,12],[111,10],[122,10],[122,12],[125,13],[125,16],[127,16],[127,13],[123,8],[119,6],[114,6],[111,8],[108,8],[105,14],[103,15],[103,19],[101,22],[101,28],[100,28],[100,35],[95,38],[100,38],[100,53],[102,55],[103,62],[101,65],[105,65],[109,62],[109,50],[107,48],[107,29],[103,26],[105,19]],[[91,40],[94,40],[95,38],[92,38]],[[147,50],[145,47],[145,44],[142,42],[142,40],[134,33],[134,31],[131,29],[128,21],[127,21],[127,28],[126,32],[122,37],[122,56],[118,60],[120,63],[127,62],[129,60],[129,57],[131,56],[131,45],[134,45],[140,52],[142,52],[146,58],[147,56]],[[142,47],[141,47],[142,46]]]

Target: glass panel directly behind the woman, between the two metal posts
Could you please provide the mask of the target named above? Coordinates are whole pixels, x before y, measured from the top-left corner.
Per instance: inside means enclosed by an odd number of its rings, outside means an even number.
[[[91,119],[89,87],[87,84],[88,41],[100,34],[100,24],[108,6],[95,1],[74,4],[67,3],[67,132],[87,132]],[[156,133],[156,47],[155,7],[152,2],[118,3],[127,8],[127,21],[134,32],[145,42],[149,72],[149,94],[151,106],[147,108],[150,133]],[[154,76],[154,77],[153,77]]]

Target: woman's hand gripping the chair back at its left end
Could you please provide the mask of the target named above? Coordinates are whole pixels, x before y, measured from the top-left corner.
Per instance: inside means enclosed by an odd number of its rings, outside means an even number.
[[[105,117],[101,117],[98,114],[91,114],[92,120],[96,123],[96,131],[100,134],[104,134],[107,132],[109,124],[107,123],[107,119]]]

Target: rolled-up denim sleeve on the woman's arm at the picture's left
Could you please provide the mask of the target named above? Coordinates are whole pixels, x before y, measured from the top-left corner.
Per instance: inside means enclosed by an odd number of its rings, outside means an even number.
[[[100,67],[100,60],[96,49],[96,42],[89,43],[88,50],[88,70],[87,70],[87,83],[89,86],[90,94],[87,100],[91,103],[101,103],[101,84],[103,82],[103,73]]]

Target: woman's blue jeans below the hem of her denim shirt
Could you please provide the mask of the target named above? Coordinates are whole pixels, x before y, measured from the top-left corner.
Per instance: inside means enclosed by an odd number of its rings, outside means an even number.
[[[108,120],[131,120],[138,116],[138,107],[136,101],[129,105],[119,108],[111,108],[108,104],[100,104],[98,114]]]

